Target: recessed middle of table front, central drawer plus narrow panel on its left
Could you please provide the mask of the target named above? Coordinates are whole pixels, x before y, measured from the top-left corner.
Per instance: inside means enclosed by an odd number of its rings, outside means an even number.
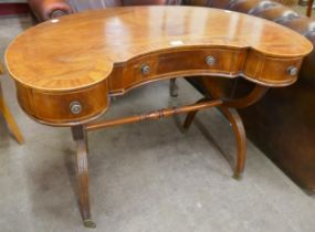
[[[108,76],[114,95],[162,78],[219,75],[238,76],[246,57],[246,49],[227,46],[172,48],[155,51],[116,63]]]

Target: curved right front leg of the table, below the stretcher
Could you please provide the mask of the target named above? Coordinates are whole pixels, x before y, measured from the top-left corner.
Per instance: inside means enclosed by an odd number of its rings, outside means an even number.
[[[246,134],[242,123],[242,119],[234,108],[228,107],[219,107],[222,114],[228,118],[231,123],[237,143],[238,143],[238,158],[237,158],[237,166],[234,168],[234,176],[233,178],[239,180],[242,177],[245,167],[246,160]]]

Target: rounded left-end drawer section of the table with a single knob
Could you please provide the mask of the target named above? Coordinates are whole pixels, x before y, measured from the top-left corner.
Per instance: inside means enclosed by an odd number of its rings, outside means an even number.
[[[95,119],[109,105],[107,80],[72,92],[41,92],[18,82],[15,86],[22,109],[45,125],[82,125]]]

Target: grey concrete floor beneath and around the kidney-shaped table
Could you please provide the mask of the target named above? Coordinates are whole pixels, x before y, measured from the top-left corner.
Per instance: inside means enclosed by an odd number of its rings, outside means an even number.
[[[30,25],[0,19],[0,53]],[[14,85],[1,77],[4,97],[25,144],[0,125],[0,231],[87,231],[75,197],[75,145],[69,129],[31,120],[18,106]],[[106,118],[192,103],[179,82],[137,88],[113,101]],[[44,106],[43,106],[44,107]],[[189,131],[183,117],[126,125],[90,134],[93,219],[102,232],[314,232],[315,199],[306,196],[250,141],[244,178],[231,178],[235,141],[216,110],[201,112]]]

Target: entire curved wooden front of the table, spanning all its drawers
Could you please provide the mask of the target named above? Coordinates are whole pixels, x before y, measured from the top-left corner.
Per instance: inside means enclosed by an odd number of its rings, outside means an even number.
[[[75,126],[95,119],[108,107],[108,94],[124,94],[162,78],[243,76],[264,86],[286,86],[297,78],[303,57],[271,57],[252,49],[174,48],[115,63],[102,82],[77,89],[45,91],[15,82],[24,112],[42,124]]]

